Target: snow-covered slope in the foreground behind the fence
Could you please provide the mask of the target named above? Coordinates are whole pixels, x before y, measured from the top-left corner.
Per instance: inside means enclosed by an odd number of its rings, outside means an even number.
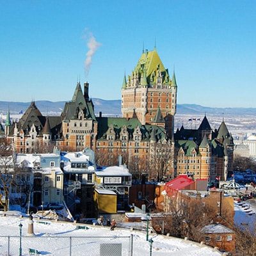
[[[15,250],[17,250],[15,255],[18,255],[19,239],[17,239],[17,237],[19,237],[20,223],[22,224],[22,255],[28,255],[28,248],[39,250],[42,252],[42,255],[69,255],[68,237],[72,237],[72,241],[74,239],[74,243],[76,243],[76,246],[72,246],[72,255],[81,255],[81,252],[89,252],[88,255],[99,255],[95,253],[97,244],[120,243],[120,241],[123,243],[123,240],[128,241],[127,239],[129,238],[127,237],[130,237],[131,234],[133,235],[133,255],[148,255],[150,252],[150,243],[146,241],[146,233],[132,230],[132,228],[131,230],[115,228],[114,231],[110,231],[108,227],[86,225],[86,229],[78,229],[76,228],[76,225],[79,225],[78,223],[49,220],[45,220],[44,223],[44,220],[38,220],[36,215],[34,215],[33,226],[35,237],[31,237],[27,234],[29,225],[28,216],[26,216],[26,214],[23,214],[23,217],[20,216],[20,212],[17,211],[6,212],[6,216],[4,216],[3,212],[0,212],[0,255],[6,255],[7,252],[7,243],[4,243],[5,240],[3,236],[10,236],[11,249],[15,247]],[[14,238],[12,236],[17,237]],[[94,239],[93,242],[90,240],[92,237]],[[52,238],[55,238],[54,243],[51,243]],[[15,243],[12,243],[12,239],[15,239]],[[193,243],[192,241],[185,241],[184,239],[161,236],[154,233],[149,234],[148,239],[153,240],[152,255],[154,256],[221,255],[221,253],[214,250],[214,248],[200,245],[199,243]],[[122,253],[122,255],[129,255],[129,246],[125,248],[127,249],[125,249],[126,251]],[[66,251],[64,252],[64,250]]]

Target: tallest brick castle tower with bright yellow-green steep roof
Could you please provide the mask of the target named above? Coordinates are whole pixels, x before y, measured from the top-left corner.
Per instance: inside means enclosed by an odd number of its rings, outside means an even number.
[[[122,85],[122,115],[136,115],[141,124],[152,124],[158,109],[164,118],[168,136],[173,136],[174,116],[177,104],[175,73],[172,79],[157,54],[143,51],[130,76],[124,77]]]

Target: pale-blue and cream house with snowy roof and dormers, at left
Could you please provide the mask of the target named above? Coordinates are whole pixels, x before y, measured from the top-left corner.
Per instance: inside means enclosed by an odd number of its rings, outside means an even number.
[[[36,207],[50,203],[63,203],[63,172],[60,168],[60,152],[52,154],[16,154],[15,164],[20,168],[17,184],[26,187],[26,193],[31,194],[30,203]],[[24,174],[23,174],[24,173]],[[24,175],[26,177],[22,178]],[[12,188],[17,192],[17,189]],[[22,198],[24,195],[20,195]]]

